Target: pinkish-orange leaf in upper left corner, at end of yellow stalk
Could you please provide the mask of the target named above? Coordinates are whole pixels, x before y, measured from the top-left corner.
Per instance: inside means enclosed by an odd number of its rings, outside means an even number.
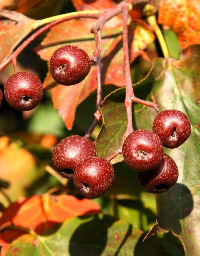
[[[0,62],[6,59],[17,44],[32,31],[36,20],[21,13],[0,9]]]

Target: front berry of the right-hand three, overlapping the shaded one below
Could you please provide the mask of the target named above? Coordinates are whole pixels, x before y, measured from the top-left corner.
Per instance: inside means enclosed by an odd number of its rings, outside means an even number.
[[[124,161],[138,172],[158,167],[164,158],[162,141],[148,130],[136,130],[125,139],[122,147]]]

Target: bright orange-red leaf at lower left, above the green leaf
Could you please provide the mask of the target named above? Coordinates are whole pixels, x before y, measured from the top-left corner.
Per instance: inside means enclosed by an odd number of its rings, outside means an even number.
[[[0,218],[0,228],[9,225],[24,227],[41,234],[57,223],[84,214],[100,213],[100,207],[89,199],[77,199],[71,195],[20,197],[12,203]],[[0,245],[6,245],[22,234],[14,228],[0,233]]]

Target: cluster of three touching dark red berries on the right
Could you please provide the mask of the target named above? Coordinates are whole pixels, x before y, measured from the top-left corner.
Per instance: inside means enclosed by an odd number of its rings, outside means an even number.
[[[153,132],[136,130],[123,143],[124,161],[137,171],[139,184],[150,193],[162,193],[178,179],[175,161],[164,154],[163,146],[177,148],[191,133],[188,117],[179,110],[161,111],[154,119]]]

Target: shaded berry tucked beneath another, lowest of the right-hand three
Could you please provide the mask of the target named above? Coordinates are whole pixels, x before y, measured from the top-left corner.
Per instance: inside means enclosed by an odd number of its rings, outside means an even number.
[[[149,172],[137,172],[137,179],[148,192],[163,193],[177,182],[178,167],[175,161],[165,154],[159,167]]]

